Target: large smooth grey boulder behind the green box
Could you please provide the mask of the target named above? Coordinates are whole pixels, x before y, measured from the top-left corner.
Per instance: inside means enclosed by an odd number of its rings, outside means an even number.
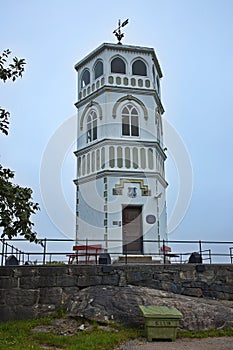
[[[175,307],[183,314],[179,327],[188,330],[233,327],[233,302],[177,295],[138,286],[93,286],[73,295],[68,304],[72,317],[114,321],[131,327],[144,324],[139,305]]]

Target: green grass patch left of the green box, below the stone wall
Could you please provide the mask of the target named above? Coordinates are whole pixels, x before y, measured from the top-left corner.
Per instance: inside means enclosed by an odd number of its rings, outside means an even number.
[[[111,331],[93,325],[92,330],[79,332],[75,336],[49,333],[33,333],[38,325],[51,324],[52,318],[30,321],[0,323],[0,349],[67,349],[67,350],[110,350],[124,341],[142,336],[142,331],[112,326]]]

